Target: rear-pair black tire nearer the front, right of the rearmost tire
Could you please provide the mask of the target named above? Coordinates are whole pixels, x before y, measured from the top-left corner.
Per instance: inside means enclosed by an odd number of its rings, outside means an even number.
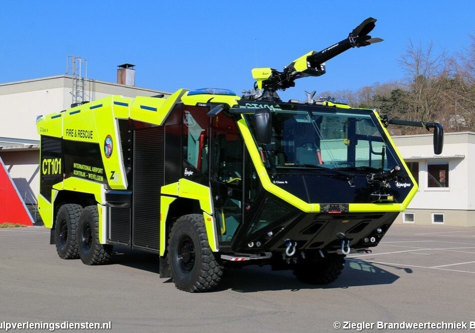
[[[109,262],[112,245],[99,243],[99,213],[97,206],[84,207],[78,222],[78,252],[86,265],[104,265]]]

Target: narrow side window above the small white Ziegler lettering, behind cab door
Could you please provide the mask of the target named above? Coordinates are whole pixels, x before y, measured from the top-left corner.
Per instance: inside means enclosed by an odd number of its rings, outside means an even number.
[[[202,108],[183,110],[183,159],[204,174],[208,172],[208,123]]]

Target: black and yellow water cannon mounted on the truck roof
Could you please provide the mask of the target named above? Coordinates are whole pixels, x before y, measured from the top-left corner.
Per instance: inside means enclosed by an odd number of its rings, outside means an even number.
[[[295,86],[295,80],[307,76],[320,76],[325,71],[325,61],[338,54],[353,48],[362,47],[382,41],[381,38],[372,38],[368,33],[373,30],[376,19],[366,18],[348,37],[321,51],[310,51],[292,61],[283,71],[273,68],[254,68],[252,76],[256,80],[254,89],[263,89],[262,94],[251,94],[249,97],[259,100],[280,101],[277,90],[285,90]],[[246,96],[248,97],[248,96]]]

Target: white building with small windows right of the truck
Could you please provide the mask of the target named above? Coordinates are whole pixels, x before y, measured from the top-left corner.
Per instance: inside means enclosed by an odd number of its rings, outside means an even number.
[[[475,227],[475,133],[445,133],[441,155],[432,134],[393,139],[419,184],[395,223]]]

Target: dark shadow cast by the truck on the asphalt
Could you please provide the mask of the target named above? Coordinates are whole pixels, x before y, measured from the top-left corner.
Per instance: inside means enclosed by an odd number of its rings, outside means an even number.
[[[126,248],[114,248],[114,252],[112,265],[124,265],[158,274],[158,255]],[[277,290],[336,289],[388,285],[399,279],[399,275],[388,272],[381,266],[396,269],[401,274],[412,274],[412,270],[409,268],[380,264],[375,266],[363,260],[347,259],[343,273],[335,282],[324,286],[315,286],[300,282],[292,271],[272,271],[270,266],[247,266],[238,269],[225,268],[223,279],[214,292],[233,290],[239,293],[254,293]],[[171,279],[163,280],[163,282],[170,283]]]

